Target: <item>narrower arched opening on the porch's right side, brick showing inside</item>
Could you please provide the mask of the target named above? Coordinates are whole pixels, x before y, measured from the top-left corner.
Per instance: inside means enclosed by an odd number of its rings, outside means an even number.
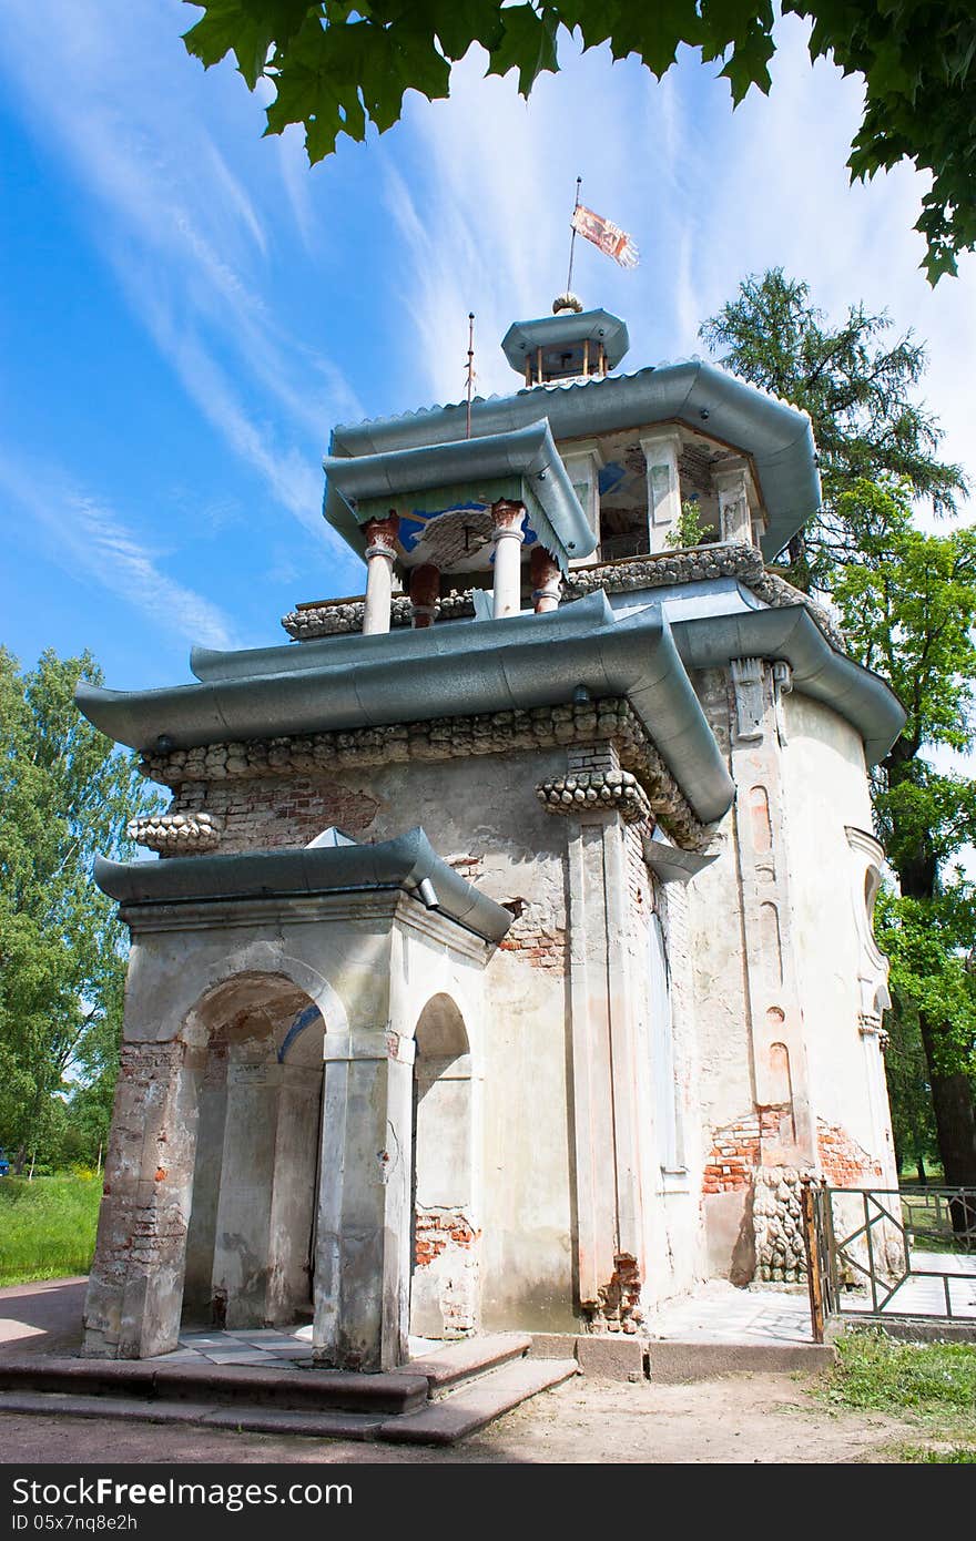
[[[410,1333],[466,1338],[478,1330],[481,1230],[470,1043],[450,995],[427,1002],[415,1039]]]

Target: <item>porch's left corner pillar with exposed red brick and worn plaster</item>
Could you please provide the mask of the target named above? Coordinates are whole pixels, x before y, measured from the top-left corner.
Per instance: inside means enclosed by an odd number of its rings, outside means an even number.
[[[179,1341],[202,1051],[123,1043],[85,1353],[146,1359]]]

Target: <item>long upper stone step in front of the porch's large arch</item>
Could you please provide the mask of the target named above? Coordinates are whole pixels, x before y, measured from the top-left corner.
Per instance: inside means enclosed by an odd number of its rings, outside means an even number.
[[[429,1385],[427,1375],[410,1370],[353,1375],[205,1362],[167,1365],[145,1359],[0,1359],[0,1392],[242,1404],[290,1412],[409,1413],[427,1402]]]

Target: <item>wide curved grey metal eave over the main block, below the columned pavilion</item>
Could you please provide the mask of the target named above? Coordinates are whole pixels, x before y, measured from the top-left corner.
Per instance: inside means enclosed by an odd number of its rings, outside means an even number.
[[[598,590],[549,615],[333,638],[281,653],[287,670],[245,675],[230,675],[220,655],[213,663],[197,653],[196,667],[207,675],[200,684],[145,692],[82,684],[76,701],[111,738],[154,752],[159,735],[187,749],[473,717],[560,706],[584,686],[594,698],[628,697],[703,823],[720,818],[732,800],[725,761],[657,606],[617,621]]]

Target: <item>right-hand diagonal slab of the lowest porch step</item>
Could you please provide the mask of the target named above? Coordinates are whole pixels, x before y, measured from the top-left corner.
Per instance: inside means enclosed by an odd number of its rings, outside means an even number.
[[[379,1425],[378,1438],[395,1444],[455,1444],[510,1413],[538,1392],[561,1385],[580,1373],[575,1359],[515,1359],[419,1413],[406,1413]]]

